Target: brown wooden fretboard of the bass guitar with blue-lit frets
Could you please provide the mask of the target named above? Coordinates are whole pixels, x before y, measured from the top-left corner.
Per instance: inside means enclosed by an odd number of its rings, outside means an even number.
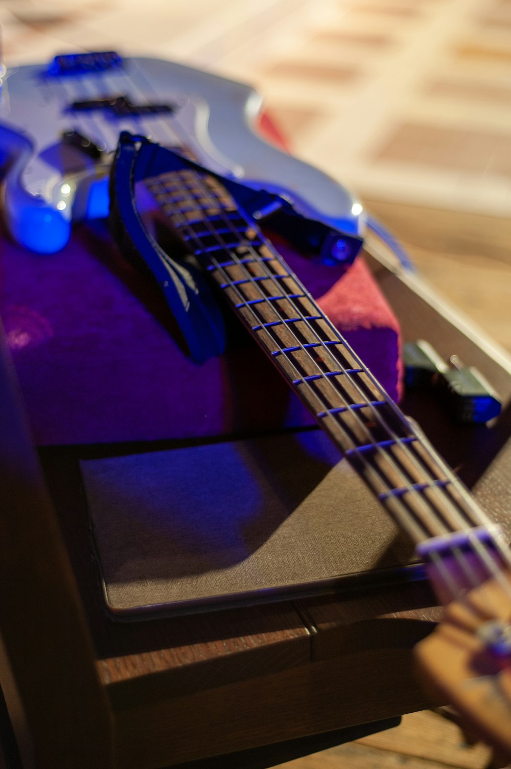
[[[187,169],[146,185],[258,345],[413,541],[489,524],[216,178]]]

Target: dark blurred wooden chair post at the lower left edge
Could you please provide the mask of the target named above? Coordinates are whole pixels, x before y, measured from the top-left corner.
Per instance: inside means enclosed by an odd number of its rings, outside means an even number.
[[[0,334],[0,679],[24,765],[106,769],[108,701]]]

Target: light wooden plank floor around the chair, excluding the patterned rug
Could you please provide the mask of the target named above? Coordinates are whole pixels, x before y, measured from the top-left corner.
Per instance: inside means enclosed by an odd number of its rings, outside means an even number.
[[[511,221],[388,201],[364,203],[406,246],[420,274],[511,353]],[[490,760],[482,744],[465,744],[456,724],[423,711],[404,716],[395,729],[281,766],[486,769]]]

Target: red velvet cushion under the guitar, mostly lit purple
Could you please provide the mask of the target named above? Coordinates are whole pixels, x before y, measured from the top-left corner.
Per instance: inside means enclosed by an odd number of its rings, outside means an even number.
[[[54,256],[5,240],[0,247],[0,312],[38,444],[184,438],[312,422],[247,339],[204,365],[189,361],[168,332],[158,290],[124,264],[101,227],[78,228]],[[396,398],[399,329],[363,261],[339,279],[337,268],[289,251],[284,257]]]

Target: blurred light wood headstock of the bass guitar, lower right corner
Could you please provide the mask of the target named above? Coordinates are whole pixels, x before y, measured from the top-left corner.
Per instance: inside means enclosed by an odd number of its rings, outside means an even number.
[[[511,755],[509,572],[450,604],[415,651],[426,690],[453,704],[483,741]]]

